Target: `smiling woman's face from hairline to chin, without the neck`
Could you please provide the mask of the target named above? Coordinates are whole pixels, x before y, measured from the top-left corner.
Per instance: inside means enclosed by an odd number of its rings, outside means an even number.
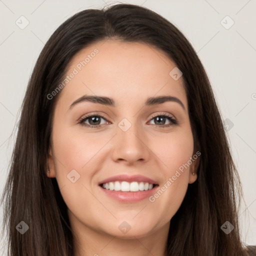
[[[137,238],[168,231],[197,161],[182,76],[173,68],[153,46],[101,41],[73,57],[66,84],[52,92],[60,95],[48,176],[79,231]]]

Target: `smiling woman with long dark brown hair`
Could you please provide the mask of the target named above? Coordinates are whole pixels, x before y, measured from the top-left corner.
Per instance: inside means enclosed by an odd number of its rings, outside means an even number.
[[[175,26],[117,4],[56,29],[4,191],[9,255],[249,255],[240,191],[208,78]]]

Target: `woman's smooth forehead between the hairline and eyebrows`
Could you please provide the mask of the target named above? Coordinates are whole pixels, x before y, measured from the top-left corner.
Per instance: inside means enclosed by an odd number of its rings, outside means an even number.
[[[115,98],[118,105],[168,94],[179,97],[186,106],[182,76],[174,80],[169,74],[175,67],[165,52],[152,45],[99,41],[73,56],[66,75],[74,75],[66,80],[61,97],[71,100],[83,94],[104,95]]]

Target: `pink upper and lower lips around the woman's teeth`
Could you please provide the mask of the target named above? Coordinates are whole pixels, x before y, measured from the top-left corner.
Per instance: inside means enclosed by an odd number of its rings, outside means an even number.
[[[150,190],[143,190],[143,191],[115,191],[115,190],[108,190],[100,185],[103,183],[111,182],[111,181],[127,181],[127,182],[132,182],[132,181],[137,181],[137,182],[148,182],[151,184],[154,184],[153,188]],[[103,179],[100,182],[98,182],[98,187],[100,191],[102,191],[105,195],[108,197],[117,200],[119,202],[127,202],[127,203],[132,203],[132,202],[137,202],[140,200],[143,200],[145,198],[148,198],[150,195],[155,193],[156,188],[158,187],[157,181],[148,178],[143,175],[127,175],[127,174],[121,174],[121,175],[115,175],[111,176],[109,178]]]

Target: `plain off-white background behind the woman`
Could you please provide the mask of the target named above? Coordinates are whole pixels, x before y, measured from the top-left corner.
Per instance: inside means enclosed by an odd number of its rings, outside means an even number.
[[[53,31],[74,13],[87,8],[100,9],[115,2],[0,0],[0,195],[7,177],[21,102],[42,47]],[[239,213],[241,235],[245,243],[255,245],[256,0],[120,2],[139,4],[162,15],[183,32],[198,53],[223,121],[229,119],[225,121],[229,123],[227,135],[245,200]],[[29,21],[24,29],[15,23],[21,15]],[[234,24],[228,28],[232,22]],[[3,239],[0,247],[2,244]]]

